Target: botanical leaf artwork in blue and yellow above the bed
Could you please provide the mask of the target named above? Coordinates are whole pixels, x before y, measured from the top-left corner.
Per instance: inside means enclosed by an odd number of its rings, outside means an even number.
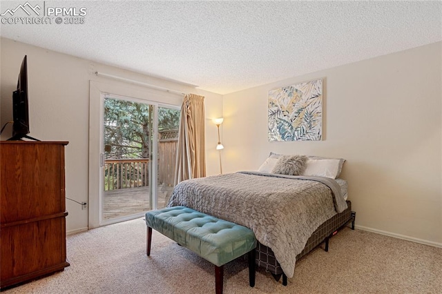
[[[320,141],[323,79],[269,91],[269,141]]]

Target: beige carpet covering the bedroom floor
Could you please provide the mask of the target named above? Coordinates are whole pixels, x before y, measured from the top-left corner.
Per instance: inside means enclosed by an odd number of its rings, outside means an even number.
[[[146,257],[143,219],[68,237],[64,272],[4,293],[214,293],[213,265],[153,232]],[[288,286],[247,262],[224,266],[224,293],[442,293],[442,248],[345,228],[296,264]]]

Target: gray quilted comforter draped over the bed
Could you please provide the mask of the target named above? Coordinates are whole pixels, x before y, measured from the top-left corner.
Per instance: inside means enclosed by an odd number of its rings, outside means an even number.
[[[327,177],[238,172],[181,182],[168,206],[187,206],[251,228],[293,277],[296,255],[311,233],[347,203]]]

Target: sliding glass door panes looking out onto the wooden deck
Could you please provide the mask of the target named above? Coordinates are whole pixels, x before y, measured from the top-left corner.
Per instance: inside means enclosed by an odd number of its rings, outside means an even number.
[[[101,222],[162,208],[175,175],[180,110],[128,97],[104,97]]]

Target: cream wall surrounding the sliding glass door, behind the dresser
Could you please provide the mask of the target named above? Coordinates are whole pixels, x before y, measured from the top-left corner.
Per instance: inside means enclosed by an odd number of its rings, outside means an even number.
[[[124,84],[112,79],[97,77],[95,71],[107,72],[126,79],[135,79],[182,92],[191,92],[206,97],[206,153],[207,158],[218,158],[215,151],[218,141],[216,127],[211,119],[222,115],[222,97],[211,92],[195,89],[155,77],[140,75],[128,70],[106,66],[93,61],[30,46],[10,39],[0,39],[1,46],[1,112],[0,125],[12,120],[12,91],[17,86],[21,60],[28,55],[28,87],[30,136],[43,141],[69,141],[66,146],[66,197],[78,202],[89,202],[88,157],[89,157],[89,81],[120,84],[148,93],[141,86]],[[166,92],[164,92],[166,94]],[[148,95],[148,94],[146,94]],[[146,98],[148,99],[148,97]],[[180,105],[182,99],[176,100]],[[163,102],[164,101],[158,101]],[[171,103],[170,100],[167,101]],[[8,126],[1,139],[11,137]],[[218,173],[218,161],[207,164],[208,175]],[[88,227],[88,210],[66,200],[68,232]]]

